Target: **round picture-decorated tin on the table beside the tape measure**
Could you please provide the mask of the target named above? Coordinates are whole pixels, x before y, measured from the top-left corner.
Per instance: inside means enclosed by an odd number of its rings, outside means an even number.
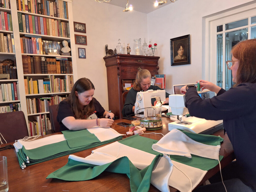
[[[145,127],[146,130],[162,129],[162,118],[159,117],[145,117],[140,119],[140,126]]]

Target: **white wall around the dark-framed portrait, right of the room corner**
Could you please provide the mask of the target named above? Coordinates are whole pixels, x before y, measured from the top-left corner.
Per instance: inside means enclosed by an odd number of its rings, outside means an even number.
[[[158,44],[159,74],[166,74],[166,91],[173,93],[173,84],[193,83],[204,78],[202,42],[205,26],[203,17],[241,6],[249,0],[178,0],[148,16],[148,38]],[[253,1],[255,2],[255,1]],[[154,29],[154,30],[152,30]],[[161,34],[161,35],[160,35]],[[190,34],[190,65],[171,66],[170,39]]]

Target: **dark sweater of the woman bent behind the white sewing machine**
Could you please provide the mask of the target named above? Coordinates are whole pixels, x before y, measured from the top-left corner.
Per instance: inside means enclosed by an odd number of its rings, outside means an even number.
[[[158,86],[154,86],[154,85],[151,85],[147,90],[151,90],[151,89],[153,89],[154,91],[161,90]],[[135,101],[136,101],[137,92],[139,92],[139,91],[135,91],[132,88],[127,93],[125,103],[124,103],[124,107],[123,107],[123,110],[122,110],[122,114],[123,114],[124,117],[134,113],[134,112],[132,112],[132,108],[133,108],[133,106],[135,104]],[[168,98],[169,95],[170,95],[169,93],[165,92],[165,98]],[[155,98],[151,99],[152,105],[154,105],[155,100],[156,100]]]

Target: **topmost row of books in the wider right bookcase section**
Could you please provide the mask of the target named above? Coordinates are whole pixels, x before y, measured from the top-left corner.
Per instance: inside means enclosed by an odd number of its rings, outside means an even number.
[[[16,0],[17,10],[68,19],[68,4],[65,1]]]

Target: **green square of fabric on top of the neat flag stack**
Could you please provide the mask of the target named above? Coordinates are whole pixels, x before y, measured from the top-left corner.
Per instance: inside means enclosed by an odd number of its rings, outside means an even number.
[[[87,129],[80,131],[62,131],[70,148],[81,147],[84,145],[100,142],[100,140]]]

